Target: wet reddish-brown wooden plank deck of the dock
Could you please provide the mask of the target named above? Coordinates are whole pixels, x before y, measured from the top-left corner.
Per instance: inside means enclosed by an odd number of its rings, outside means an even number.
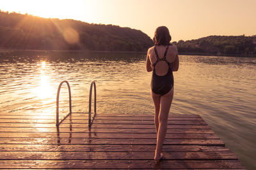
[[[245,169],[199,115],[170,115],[157,163],[152,115],[55,118],[0,115],[0,169]]]

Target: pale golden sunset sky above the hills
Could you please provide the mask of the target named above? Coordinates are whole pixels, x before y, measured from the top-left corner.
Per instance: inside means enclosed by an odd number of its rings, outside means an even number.
[[[1,0],[1,11],[45,18],[71,18],[139,29],[150,38],[166,25],[172,41],[210,35],[256,34],[255,0]]]

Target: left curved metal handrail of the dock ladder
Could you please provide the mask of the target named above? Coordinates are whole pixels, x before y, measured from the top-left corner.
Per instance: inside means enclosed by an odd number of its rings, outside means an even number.
[[[72,113],[72,106],[71,106],[71,90],[70,90],[70,85],[68,81],[62,81],[58,87],[58,92],[57,92],[57,97],[56,97],[56,126],[59,126],[63,120],[65,120],[68,115],[65,116],[60,122],[59,122],[59,98],[60,98],[60,89],[63,83],[66,83],[68,86],[68,96],[69,96],[69,113],[70,115]]]

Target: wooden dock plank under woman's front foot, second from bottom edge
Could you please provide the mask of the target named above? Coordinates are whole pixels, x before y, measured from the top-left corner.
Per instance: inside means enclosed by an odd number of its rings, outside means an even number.
[[[153,160],[154,152],[1,152],[0,160]],[[163,160],[237,160],[230,151],[164,152]]]

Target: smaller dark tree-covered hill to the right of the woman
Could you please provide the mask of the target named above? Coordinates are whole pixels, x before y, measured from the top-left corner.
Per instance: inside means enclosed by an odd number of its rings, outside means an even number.
[[[179,52],[214,54],[256,54],[256,36],[207,36],[173,42]]]

